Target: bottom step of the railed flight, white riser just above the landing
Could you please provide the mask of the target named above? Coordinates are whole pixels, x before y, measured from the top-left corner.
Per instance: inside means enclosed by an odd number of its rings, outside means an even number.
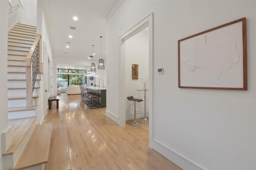
[[[8,119],[22,119],[27,117],[35,117],[36,109],[38,106],[33,106],[31,108],[22,107],[9,107],[8,108]]]

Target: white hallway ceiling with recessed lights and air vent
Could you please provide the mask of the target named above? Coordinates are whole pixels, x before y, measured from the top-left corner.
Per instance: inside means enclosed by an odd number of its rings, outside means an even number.
[[[58,61],[67,58],[73,61],[89,60],[88,57],[92,55],[92,45],[94,45],[94,63],[97,63],[100,59],[100,36],[102,36],[102,58],[106,60],[105,17],[117,1],[45,0],[44,10],[52,56]],[[77,21],[73,20],[74,16],[78,18]],[[76,29],[72,30],[70,26]],[[69,35],[73,38],[69,38]],[[66,45],[70,47],[66,48]]]

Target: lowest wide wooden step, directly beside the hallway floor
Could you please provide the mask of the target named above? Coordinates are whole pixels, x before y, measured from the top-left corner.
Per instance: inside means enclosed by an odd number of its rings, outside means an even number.
[[[52,127],[49,157],[44,170],[71,170],[65,125]]]

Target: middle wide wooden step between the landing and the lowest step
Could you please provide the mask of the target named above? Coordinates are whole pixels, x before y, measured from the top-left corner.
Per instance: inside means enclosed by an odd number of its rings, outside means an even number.
[[[30,168],[47,163],[52,123],[37,125],[22,151],[13,170]]]

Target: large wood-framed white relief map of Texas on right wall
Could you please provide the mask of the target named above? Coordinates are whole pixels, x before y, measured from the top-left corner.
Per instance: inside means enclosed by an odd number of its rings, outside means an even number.
[[[247,90],[246,18],[178,40],[179,88]]]

